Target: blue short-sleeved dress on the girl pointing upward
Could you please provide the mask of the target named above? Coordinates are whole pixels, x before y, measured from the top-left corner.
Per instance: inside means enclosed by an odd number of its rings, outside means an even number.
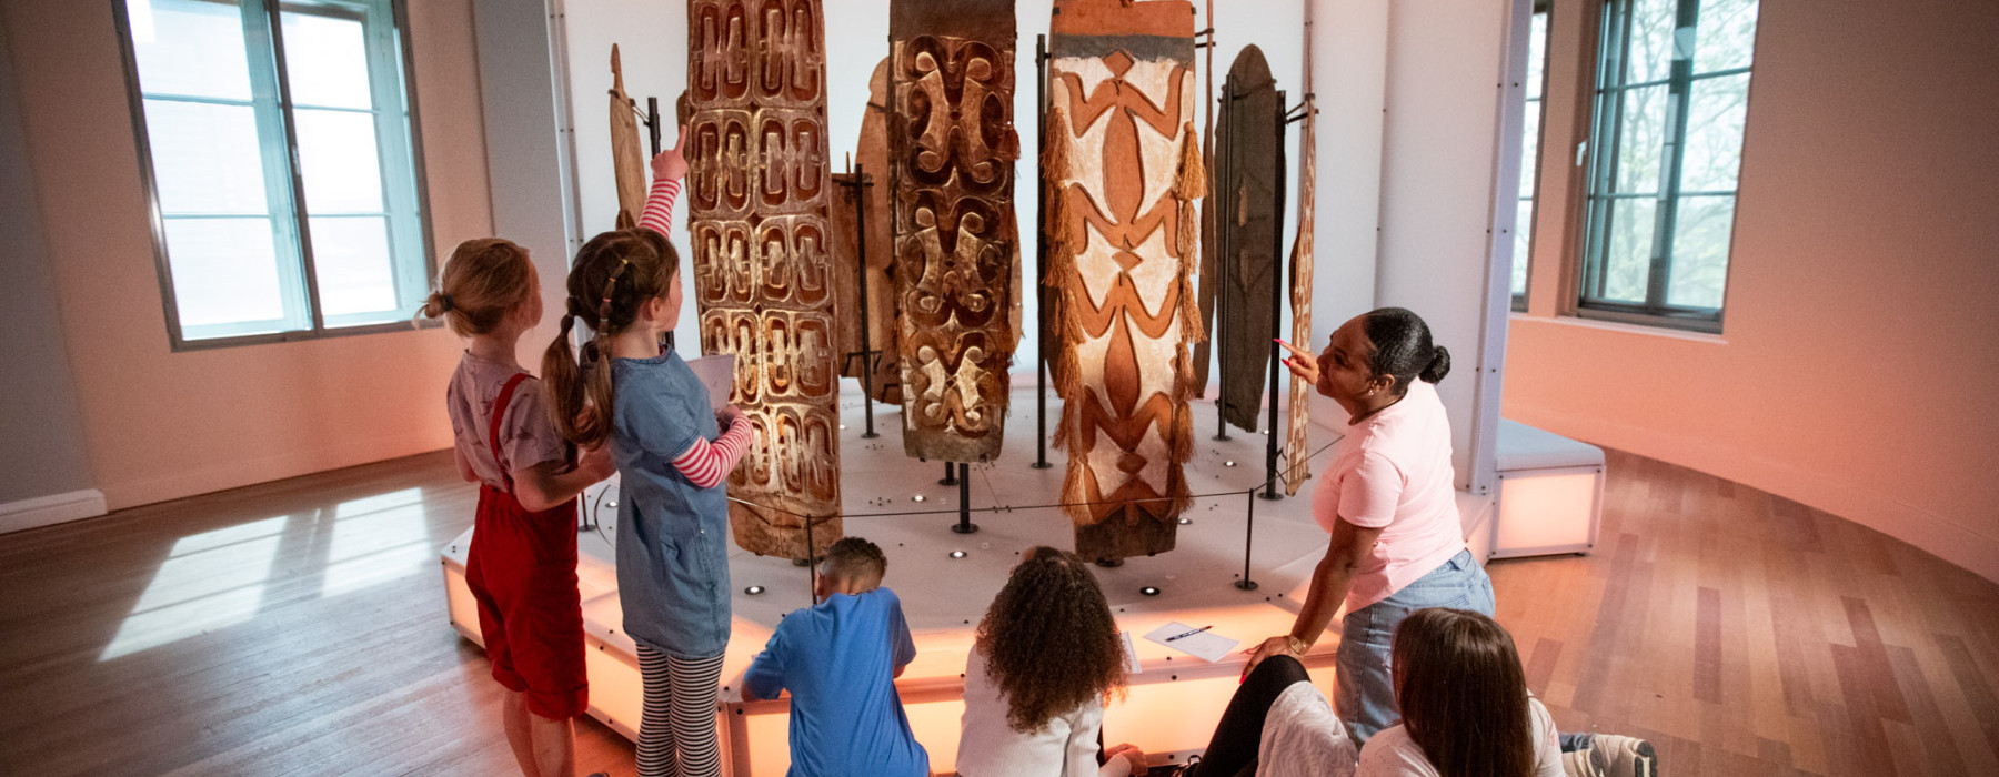
[[[612,360],[618,461],[618,599],[632,639],[680,659],[730,645],[730,503],[672,459],[722,429],[708,388],[680,354]]]

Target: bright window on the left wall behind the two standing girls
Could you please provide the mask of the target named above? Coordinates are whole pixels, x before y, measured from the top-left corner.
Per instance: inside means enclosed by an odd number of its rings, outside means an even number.
[[[174,348],[400,324],[428,294],[392,0],[114,0]]]

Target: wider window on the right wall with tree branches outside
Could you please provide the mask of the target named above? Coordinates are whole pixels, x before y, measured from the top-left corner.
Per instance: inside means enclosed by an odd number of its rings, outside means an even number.
[[[1757,0],[1609,0],[1579,308],[1721,330]]]

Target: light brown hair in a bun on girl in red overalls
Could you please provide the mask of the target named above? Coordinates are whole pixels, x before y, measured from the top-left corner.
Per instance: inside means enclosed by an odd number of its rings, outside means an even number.
[[[438,290],[424,300],[418,316],[444,318],[460,338],[500,328],[514,308],[534,296],[534,262],[512,240],[466,240],[444,260]]]

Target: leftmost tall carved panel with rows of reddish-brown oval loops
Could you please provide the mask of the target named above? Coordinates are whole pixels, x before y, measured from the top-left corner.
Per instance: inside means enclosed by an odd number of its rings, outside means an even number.
[[[702,350],[736,354],[734,401],[754,429],[730,473],[730,525],[748,551],[818,555],[840,539],[820,0],[692,0],[688,38]],[[800,515],[830,517],[812,549]]]

